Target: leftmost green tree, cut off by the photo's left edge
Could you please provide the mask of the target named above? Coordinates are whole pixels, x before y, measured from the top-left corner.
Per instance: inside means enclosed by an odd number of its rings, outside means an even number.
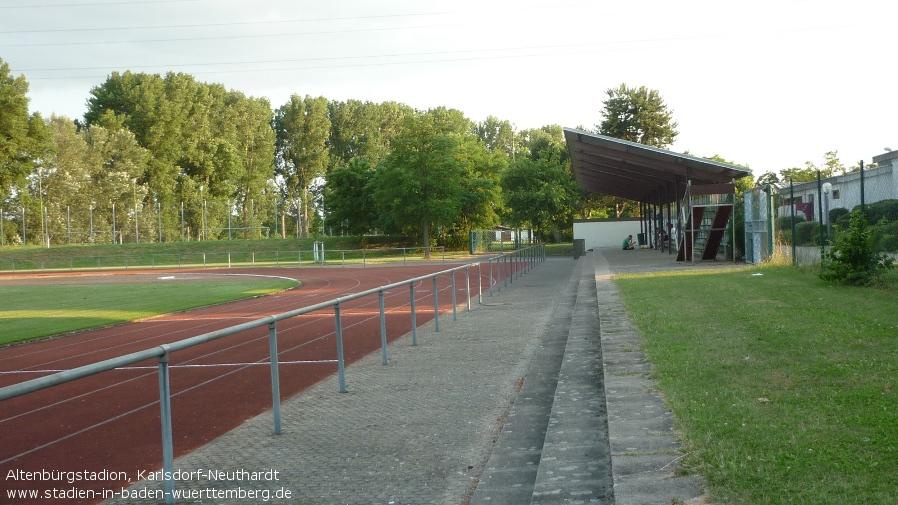
[[[0,201],[25,181],[49,152],[50,132],[37,113],[28,114],[28,82],[13,77],[0,59]]]

